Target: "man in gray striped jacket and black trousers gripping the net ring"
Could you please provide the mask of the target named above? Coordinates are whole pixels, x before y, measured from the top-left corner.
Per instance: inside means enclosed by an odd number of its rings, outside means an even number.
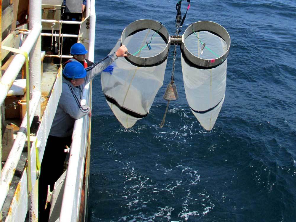
[[[84,52],[87,53],[86,50]],[[62,93],[41,163],[38,195],[39,221],[48,221],[50,206],[47,206],[44,210],[47,186],[50,185],[50,188],[53,189],[55,181],[63,173],[66,158],[64,149],[65,146],[70,147],[71,145],[74,122],[85,115],[91,116],[90,107],[80,104],[84,86],[105,70],[115,59],[127,56],[126,52],[127,48],[123,45],[116,52],[87,68],[78,61],[71,61],[65,65],[62,71]]]

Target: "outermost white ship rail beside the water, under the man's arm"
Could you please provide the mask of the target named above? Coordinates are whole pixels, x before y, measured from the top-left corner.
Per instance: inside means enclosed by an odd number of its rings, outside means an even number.
[[[94,61],[94,39],[95,39],[95,0],[90,1],[90,33],[89,33],[89,60]],[[85,86],[81,105],[91,107],[92,82]],[[83,129],[88,128],[86,132]],[[69,165],[65,181],[62,208],[59,217],[60,222],[77,221],[81,205],[81,192],[83,189],[83,177],[85,166],[85,155],[90,149],[91,118],[84,116],[75,121],[72,144],[70,148]],[[82,139],[83,138],[83,139]],[[87,163],[90,164],[90,163]],[[87,194],[85,194],[87,195]]]

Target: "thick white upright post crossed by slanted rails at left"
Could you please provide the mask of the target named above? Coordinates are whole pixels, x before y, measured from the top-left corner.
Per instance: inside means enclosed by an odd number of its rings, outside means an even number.
[[[41,25],[41,1],[29,1],[29,29],[34,25]],[[41,92],[41,36],[30,52],[30,97],[35,91]],[[28,92],[27,92],[28,93]],[[40,104],[35,115],[41,116]]]

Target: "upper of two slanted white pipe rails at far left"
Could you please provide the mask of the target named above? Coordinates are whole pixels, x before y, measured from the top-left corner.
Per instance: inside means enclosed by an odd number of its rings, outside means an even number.
[[[29,54],[41,33],[41,28],[42,27],[40,24],[34,26],[20,50],[27,52]],[[22,65],[24,65],[24,62],[25,57],[21,54],[17,54],[10,63],[4,75],[2,76],[0,83],[0,104],[4,102],[4,99],[6,98],[6,95],[10,87],[12,86],[13,81],[15,81],[15,78],[17,77],[17,74],[20,72]]]

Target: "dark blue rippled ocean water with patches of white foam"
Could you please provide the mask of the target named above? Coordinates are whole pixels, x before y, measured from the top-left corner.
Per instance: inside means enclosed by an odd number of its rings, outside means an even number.
[[[173,35],[176,2],[96,1],[95,61],[135,20],[160,21]],[[187,104],[179,50],[179,99],[163,128],[173,50],[149,115],[132,128],[120,125],[94,80],[89,221],[296,221],[296,2],[192,0],[184,24],[202,20],[231,37],[211,131]]]

